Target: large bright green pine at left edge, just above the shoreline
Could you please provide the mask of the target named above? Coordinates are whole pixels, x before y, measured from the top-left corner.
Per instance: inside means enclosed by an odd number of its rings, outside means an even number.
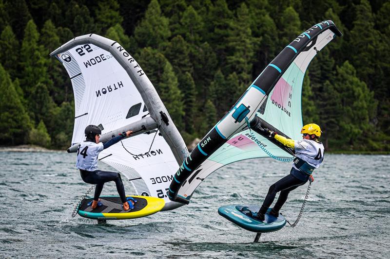
[[[31,129],[28,117],[20,96],[0,64],[0,141],[3,145],[22,144],[26,132]]]

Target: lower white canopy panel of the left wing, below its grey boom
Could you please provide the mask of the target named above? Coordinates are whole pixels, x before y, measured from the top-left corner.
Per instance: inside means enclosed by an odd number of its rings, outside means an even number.
[[[166,192],[178,164],[170,147],[158,134],[149,151],[154,136],[154,133],[142,134],[122,140],[124,147],[134,155],[129,154],[119,142],[103,150],[99,158],[125,175],[137,195],[162,198],[168,203],[170,200]]]

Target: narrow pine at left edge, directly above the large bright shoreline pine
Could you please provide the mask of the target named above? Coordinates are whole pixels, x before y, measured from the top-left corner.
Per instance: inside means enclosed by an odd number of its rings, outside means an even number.
[[[19,42],[11,26],[7,25],[0,35],[0,63],[10,73],[11,78],[19,74],[18,59]]]

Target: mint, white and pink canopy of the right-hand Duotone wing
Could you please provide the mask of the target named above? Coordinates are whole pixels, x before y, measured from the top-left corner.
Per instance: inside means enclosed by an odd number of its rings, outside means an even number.
[[[302,84],[313,57],[335,37],[326,30],[311,41],[291,62],[261,105],[257,116],[292,139],[301,139]],[[211,173],[227,164],[260,157],[292,161],[292,155],[248,128],[229,138],[187,178],[178,196],[189,200],[196,187]]]

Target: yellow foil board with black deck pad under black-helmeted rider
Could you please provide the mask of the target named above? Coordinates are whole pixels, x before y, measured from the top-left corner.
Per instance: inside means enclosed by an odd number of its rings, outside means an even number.
[[[123,210],[123,203],[119,196],[100,196],[102,206],[92,209],[87,204],[93,198],[85,198],[81,201],[78,209],[78,215],[88,219],[105,220],[125,220],[146,217],[160,211],[165,201],[156,197],[149,196],[127,196],[137,200],[133,209]]]

